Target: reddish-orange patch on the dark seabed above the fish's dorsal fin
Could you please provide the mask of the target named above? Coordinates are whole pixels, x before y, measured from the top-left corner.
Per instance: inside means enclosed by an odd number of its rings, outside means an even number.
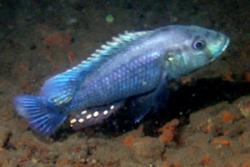
[[[72,44],[72,37],[62,32],[54,32],[45,37],[43,42],[49,46],[65,47]]]

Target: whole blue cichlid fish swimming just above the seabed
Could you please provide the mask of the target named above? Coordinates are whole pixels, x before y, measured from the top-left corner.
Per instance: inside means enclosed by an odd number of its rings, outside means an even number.
[[[79,65],[48,79],[38,96],[21,95],[16,111],[41,135],[52,135],[67,118],[73,129],[103,122],[125,101],[135,103],[139,122],[170,80],[217,59],[229,38],[198,26],[171,25],[126,32]]]

